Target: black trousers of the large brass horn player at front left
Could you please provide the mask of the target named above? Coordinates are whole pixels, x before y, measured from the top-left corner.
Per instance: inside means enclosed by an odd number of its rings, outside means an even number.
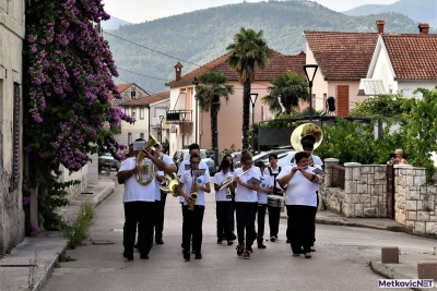
[[[125,252],[133,253],[138,225],[138,244],[142,254],[149,254],[152,247],[154,202],[125,203],[123,246]]]

